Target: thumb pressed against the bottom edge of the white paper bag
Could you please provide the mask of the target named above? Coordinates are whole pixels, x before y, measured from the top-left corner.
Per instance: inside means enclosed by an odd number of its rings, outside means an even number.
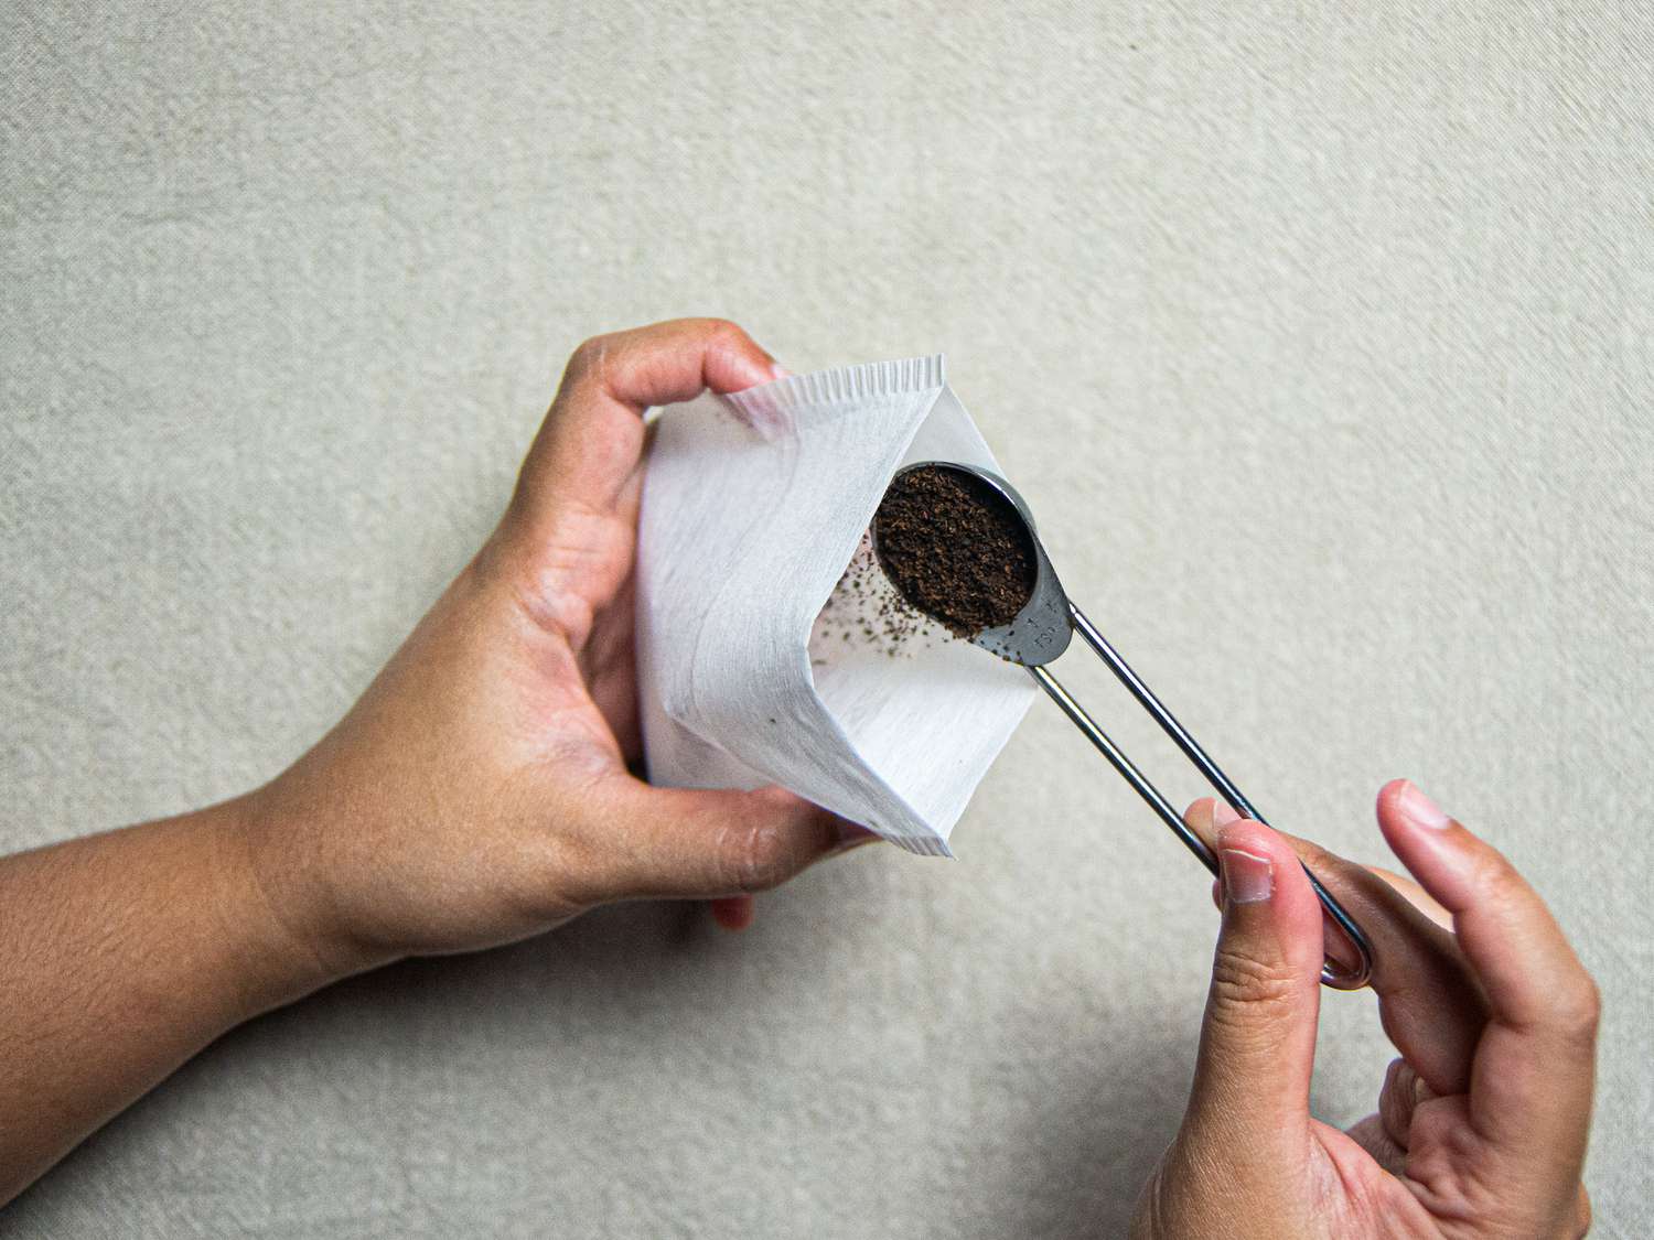
[[[791,792],[633,785],[609,899],[710,899],[767,891],[878,837]]]

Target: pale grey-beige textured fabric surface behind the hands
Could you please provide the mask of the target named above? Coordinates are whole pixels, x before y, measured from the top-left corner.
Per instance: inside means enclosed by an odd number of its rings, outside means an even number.
[[[1277,822],[1378,860],[1406,774],[1548,894],[1608,1004],[1598,1233],[1649,1233],[1642,5],[275,8],[0,17],[0,847],[280,770],[582,337],[943,349],[1075,597]],[[1206,880],[1044,706],[954,843],[743,937],[615,909],[336,987],[0,1228],[1113,1233],[1188,1088]],[[1323,1118],[1386,1058],[1330,997]]]

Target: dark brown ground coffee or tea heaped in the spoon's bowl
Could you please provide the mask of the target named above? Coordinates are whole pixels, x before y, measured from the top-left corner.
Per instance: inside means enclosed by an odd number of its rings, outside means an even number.
[[[973,475],[908,470],[885,491],[873,531],[901,597],[958,637],[1011,623],[1034,594],[1027,527],[1009,499]]]

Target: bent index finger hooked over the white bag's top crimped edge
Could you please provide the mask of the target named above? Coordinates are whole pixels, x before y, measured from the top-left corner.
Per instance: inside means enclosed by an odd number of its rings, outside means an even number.
[[[645,408],[776,377],[774,359],[726,319],[594,336],[569,357],[511,504],[531,521],[552,506],[607,513],[643,451]]]

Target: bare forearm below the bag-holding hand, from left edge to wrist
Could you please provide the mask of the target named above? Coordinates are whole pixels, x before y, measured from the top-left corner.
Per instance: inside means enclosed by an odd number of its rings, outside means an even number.
[[[245,802],[0,860],[0,1202],[240,1022],[332,980]]]

